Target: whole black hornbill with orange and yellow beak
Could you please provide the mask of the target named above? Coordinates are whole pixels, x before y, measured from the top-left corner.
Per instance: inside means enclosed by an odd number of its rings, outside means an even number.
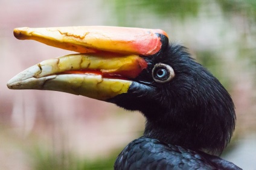
[[[115,169],[240,169],[215,156],[234,131],[231,96],[164,31],[26,27],[14,29],[14,36],[78,54],[31,66],[8,88],[88,96],[145,116],[143,136],[124,148]]]

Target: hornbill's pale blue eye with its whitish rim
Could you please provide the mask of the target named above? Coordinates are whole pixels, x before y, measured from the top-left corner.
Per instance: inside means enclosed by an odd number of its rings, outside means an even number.
[[[157,83],[166,83],[174,77],[174,71],[171,66],[158,63],[152,70],[152,76]]]

